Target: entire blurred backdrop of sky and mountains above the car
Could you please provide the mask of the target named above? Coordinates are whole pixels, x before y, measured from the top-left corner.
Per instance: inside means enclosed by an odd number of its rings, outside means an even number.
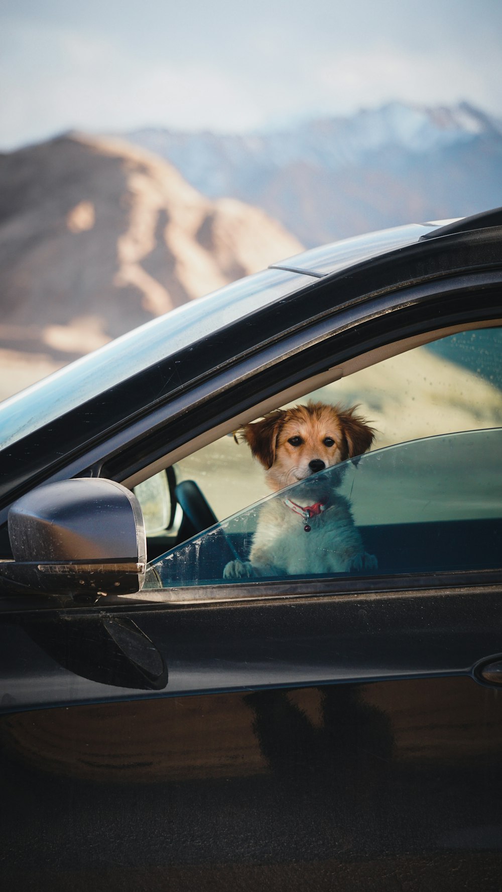
[[[501,38],[491,0],[5,0],[0,400],[303,247],[502,204]]]

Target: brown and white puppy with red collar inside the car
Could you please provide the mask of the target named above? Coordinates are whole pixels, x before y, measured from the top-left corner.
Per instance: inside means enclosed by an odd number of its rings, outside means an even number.
[[[241,428],[237,442],[247,442],[266,468],[272,491],[299,485],[291,499],[285,494],[260,508],[250,559],[226,564],[225,579],[375,569],[376,558],[364,549],[349,501],[333,492],[326,475],[317,476],[370,448],[374,428],[356,409],[309,402],[268,412]]]

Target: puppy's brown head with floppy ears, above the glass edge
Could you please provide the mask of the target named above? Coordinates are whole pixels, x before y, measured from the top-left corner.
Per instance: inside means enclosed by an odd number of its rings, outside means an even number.
[[[276,409],[244,425],[241,437],[267,468],[270,488],[280,490],[370,448],[374,430],[354,414],[356,408],[309,402]]]

